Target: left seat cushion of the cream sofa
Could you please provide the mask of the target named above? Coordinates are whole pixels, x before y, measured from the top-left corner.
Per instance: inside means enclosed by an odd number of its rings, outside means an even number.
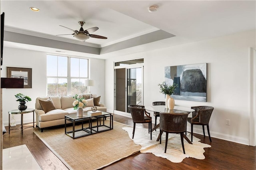
[[[52,111],[48,111],[46,114],[39,116],[39,121],[52,121],[57,119],[65,119],[65,115],[68,115],[67,111],[64,111],[62,109],[55,109]]]

